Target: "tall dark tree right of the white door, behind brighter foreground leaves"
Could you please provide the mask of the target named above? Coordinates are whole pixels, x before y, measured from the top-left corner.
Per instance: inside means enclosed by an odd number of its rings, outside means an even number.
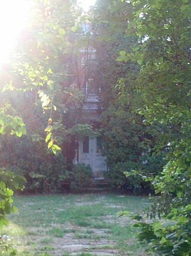
[[[137,35],[126,33],[133,7],[120,0],[97,1],[91,12],[98,63],[94,73],[98,77],[101,106],[104,108],[100,124],[109,169],[107,177],[118,189],[135,194],[149,193],[149,183],[146,185],[141,176],[127,178],[124,174],[124,171],[136,169],[144,171],[144,174],[158,173],[164,163],[161,161],[162,152],[152,156],[153,150],[150,150],[164,127],[144,125],[143,116],[135,111],[140,97],[134,88],[134,80],[140,65],[133,59],[121,62],[126,52],[133,54],[131,48],[137,42]]]

